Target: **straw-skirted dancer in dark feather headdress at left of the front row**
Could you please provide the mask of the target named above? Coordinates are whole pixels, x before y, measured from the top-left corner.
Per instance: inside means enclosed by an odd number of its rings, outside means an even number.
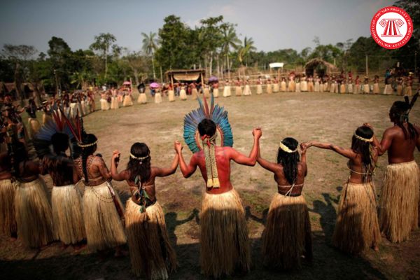
[[[66,150],[69,148],[69,136],[61,132],[56,132],[51,136],[50,132],[55,131],[54,126],[54,123],[43,126],[36,135],[34,146],[39,147],[35,144],[38,139],[50,139],[46,141],[45,146],[52,144],[52,153],[42,155],[42,151],[38,152],[39,149],[37,152],[38,156],[42,157],[41,173],[50,174],[54,186],[51,192],[54,237],[65,245],[74,245],[86,237],[82,197],[73,185],[73,162],[66,155]],[[43,148],[48,151],[48,146]]]

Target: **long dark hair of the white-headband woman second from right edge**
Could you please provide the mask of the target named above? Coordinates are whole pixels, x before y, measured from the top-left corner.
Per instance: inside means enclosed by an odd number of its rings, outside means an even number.
[[[370,129],[370,127],[364,126],[358,127],[354,134],[364,139],[371,139],[373,137],[373,131]],[[351,139],[351,150],[362,156],[362,163],[365,169],[365,175],[363,176],[363,180],[365,181],[365,179],[367,179],[367,176],[372,174],[374,170],[374,161],[372,158],[372,149],[370,146],[372,142],[358,139],[354,134],[353,138]]]

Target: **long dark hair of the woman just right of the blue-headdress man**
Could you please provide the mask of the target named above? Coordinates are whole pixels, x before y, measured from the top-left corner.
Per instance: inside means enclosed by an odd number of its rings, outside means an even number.
[[[283,145],[294,151],[299,144],[296,139],[287,137],[281,141]],[[293,185],[297,179],[297,163],[300,162],[300,155],[297,151],[294,153],[287,153],[279,148],[277,153],[277,163],[283,165],[283,172],[286,180]]]

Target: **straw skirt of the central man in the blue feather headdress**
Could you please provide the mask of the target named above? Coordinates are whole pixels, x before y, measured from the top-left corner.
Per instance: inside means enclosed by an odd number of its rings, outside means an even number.
[[[200,214],[202,272],[218,278],[235,269],[249,270],[251,254],[244,208],[235,189],[220,195],[204,193]]]

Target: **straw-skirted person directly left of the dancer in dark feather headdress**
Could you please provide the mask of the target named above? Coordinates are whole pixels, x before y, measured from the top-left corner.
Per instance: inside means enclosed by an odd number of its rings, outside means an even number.
[[[54,239],[47,186],[38,176],[38,164],[29,160],[25,146],[18,142],[14,148],[15,178],[18,180],[15,196],[18,237],[25,246],[40,248]]]

